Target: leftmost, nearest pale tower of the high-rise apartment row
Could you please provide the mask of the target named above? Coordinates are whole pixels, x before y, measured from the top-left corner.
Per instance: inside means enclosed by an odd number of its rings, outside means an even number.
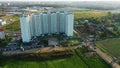
[[[21,25],[21,33],[22,33],[22,41],[30,42],[32,33],[30,30],[30,16],[22,16],[20,17],[20,25]]]

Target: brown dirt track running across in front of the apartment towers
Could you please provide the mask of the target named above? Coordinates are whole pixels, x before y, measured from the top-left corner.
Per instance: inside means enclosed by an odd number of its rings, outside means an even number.
[[[58,50],[58,51],[63,51],[66,49],[76,49],[79,46],[71,46],[71,47],[44,47],[44,48],[34,48],[34,49],[30,49],[30,50],[25,50],[25,51],[21,51],[21,50],[16,50],[16,51],[6,51],[3,52],[3,55],[14,55],[14,54],[23,54],[23,53],[37,53],[37,52],[51,52],[53,50]]]

